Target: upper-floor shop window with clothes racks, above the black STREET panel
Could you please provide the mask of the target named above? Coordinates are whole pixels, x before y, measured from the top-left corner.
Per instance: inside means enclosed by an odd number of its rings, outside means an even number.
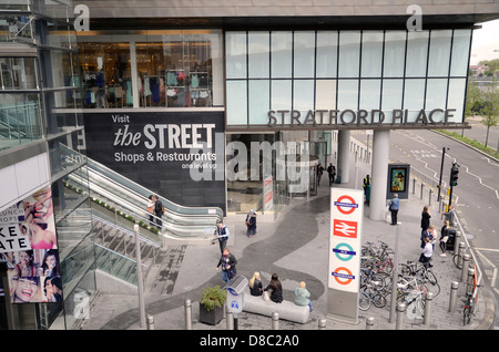
[[[221,31],[81,32],[85,108],[223,105]]]

